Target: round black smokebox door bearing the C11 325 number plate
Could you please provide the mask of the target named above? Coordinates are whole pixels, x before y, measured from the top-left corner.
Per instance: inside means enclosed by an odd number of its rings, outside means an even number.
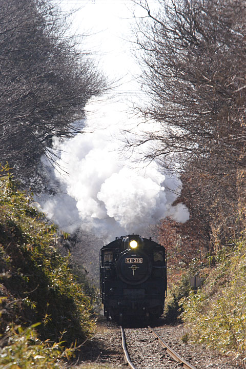
[[[145,282],[151,274],[151,261],[142,251],[125,251],[117,262],[119,278],[126,283],[139,284]]]

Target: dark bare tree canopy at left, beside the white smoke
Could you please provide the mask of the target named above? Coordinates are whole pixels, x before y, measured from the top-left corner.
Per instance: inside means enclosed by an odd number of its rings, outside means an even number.
[[[28,183],[53,135],[81,129],[76,122],[106,80],[52,2],[3,0],[0,14],[0,162]]]

